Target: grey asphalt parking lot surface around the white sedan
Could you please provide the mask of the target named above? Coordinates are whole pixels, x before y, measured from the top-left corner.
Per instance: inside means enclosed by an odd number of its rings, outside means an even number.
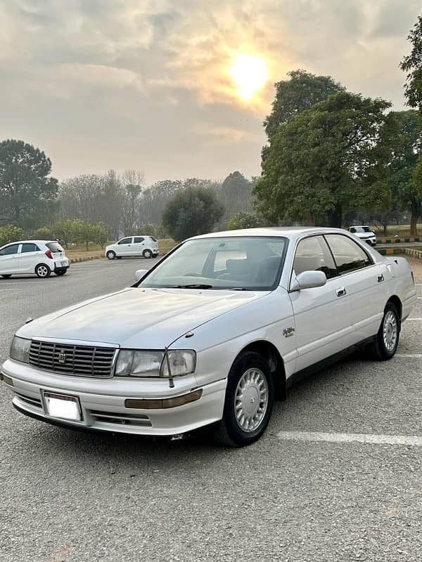
[[[0,280],[0,360],[28,316],[125,287],[152,263]],[[1,562],[420,561],[418,294],[396,358],[303,381],[239,450],[59,429],[15,412],[0,386]]]

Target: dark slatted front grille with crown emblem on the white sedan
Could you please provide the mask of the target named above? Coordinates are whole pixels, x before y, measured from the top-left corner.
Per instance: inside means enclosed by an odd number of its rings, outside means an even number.
[[[111,377],[115,348],[53,344],[32,340],[30,365],[81,377]]]

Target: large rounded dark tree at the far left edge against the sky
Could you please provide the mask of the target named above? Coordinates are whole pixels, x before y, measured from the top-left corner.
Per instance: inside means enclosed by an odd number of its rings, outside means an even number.
[[[57,197],[50,173],[51,160],[39,148],[13,139],[0,143],[0,221],[39,223]]]

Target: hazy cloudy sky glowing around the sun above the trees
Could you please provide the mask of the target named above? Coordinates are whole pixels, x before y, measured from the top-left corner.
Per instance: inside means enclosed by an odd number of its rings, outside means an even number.
[[[420,0],[0,0],[0,138],[59,179],[134,168],[146,182],[260,174],[274,81],[303,68],[404,106],[398,64]],[[241,100],[236,55],[267,86]]]

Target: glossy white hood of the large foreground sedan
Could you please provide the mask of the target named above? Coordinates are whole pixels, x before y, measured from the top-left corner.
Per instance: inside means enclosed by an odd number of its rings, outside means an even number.
[[[17,335],[158,349],[267,292],[128,288],[43,316]],[[228,320],[229,322],[229,320]]]

